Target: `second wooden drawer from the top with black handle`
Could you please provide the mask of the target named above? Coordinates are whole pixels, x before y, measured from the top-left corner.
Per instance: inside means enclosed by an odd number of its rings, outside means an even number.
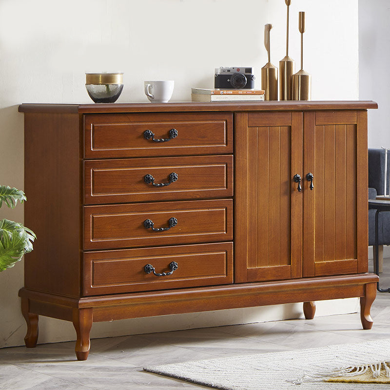
[[[233,196],[233,156],[87,160],[84,169],[86,204]]]

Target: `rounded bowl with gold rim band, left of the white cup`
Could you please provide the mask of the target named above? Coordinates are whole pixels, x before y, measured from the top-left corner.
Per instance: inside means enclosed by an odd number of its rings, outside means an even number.
[[[114,103],[123,89],[123,73],[86,73],[85,88],[95,103]]]

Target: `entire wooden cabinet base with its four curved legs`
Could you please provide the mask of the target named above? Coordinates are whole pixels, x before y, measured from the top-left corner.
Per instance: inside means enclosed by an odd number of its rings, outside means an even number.
[[[80,299],[22,288],[19,296],[27,323],[27,347],[36,345],[39,315],[68,320],[77,333],[77,358],[85,360],[92,323],[125,318],[304,302],[305,317],[310,319],[314,317],[316,300],[360,297],[362,326],[370,329],[377,281],[377,275],[363,273]]]

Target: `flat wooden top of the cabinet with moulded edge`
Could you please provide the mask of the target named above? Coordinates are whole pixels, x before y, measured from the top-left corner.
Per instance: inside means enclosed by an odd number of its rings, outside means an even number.
[[[179,103],[94,103],[94,104],[21,104],[23,113],[142,113],[194,111],[307,111],[367,110],[378,108],[374,101],[242,101],[242,102],[179,102]]]

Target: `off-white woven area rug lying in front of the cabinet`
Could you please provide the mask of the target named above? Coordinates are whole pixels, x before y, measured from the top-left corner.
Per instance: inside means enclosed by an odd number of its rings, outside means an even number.
[[[389,361],[390,339],[385,339],[308,350],[166,364],[145,367],[144,370],[222,390],[389,390],[390,385],[385,383],[327,381],[334,374],[337,377],[340,373],[349,371],[362,372],[363,368],[363,374],[368,378],[378,375],[387,377],[384,364],[380,367],[379,364]],[[356,369],[351,370],[354,367]],[[347,376],[346,380],[351,380],[351,377]]]

